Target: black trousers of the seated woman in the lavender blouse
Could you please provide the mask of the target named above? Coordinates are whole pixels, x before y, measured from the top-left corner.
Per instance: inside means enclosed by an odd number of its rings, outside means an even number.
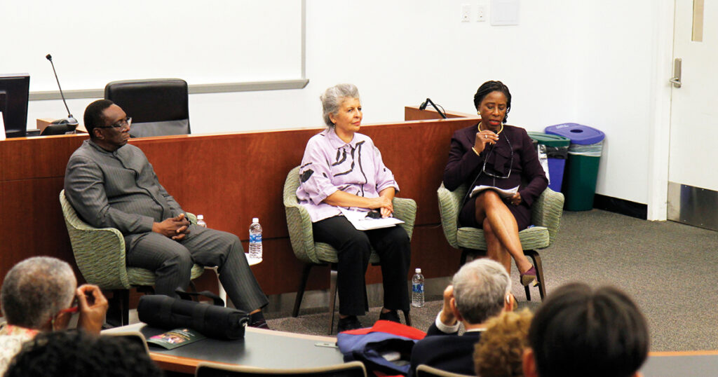
[[[312,224],[314,241],[329,243],[337,249],[337,290],[342,315],[364,315],[364,274],[369,265],[371,248],[381,258],[381,276],[386,309],[409,309],[409,274],[411,246],[409,235],[401,226],[358,231],[344,216],[334,216]]]

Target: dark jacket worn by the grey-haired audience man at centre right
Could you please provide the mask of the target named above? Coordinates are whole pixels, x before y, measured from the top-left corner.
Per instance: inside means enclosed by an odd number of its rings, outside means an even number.
[[[426,338],[419,340],[411,350],[409,377],[416,375],[421,364],[439,368],[442,371],[475,375],[474,345],[481,337],[480,331],[446,334],[432,324],[426,331]]]

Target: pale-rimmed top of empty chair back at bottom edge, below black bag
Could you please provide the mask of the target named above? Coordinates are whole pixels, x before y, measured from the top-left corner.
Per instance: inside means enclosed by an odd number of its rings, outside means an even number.
[[[361,361],[320,366],[316,368],[270,369],[252,366],[230,366],[228,364],[202,362],[197,364],[195,377],[366,377],[366,368]]]

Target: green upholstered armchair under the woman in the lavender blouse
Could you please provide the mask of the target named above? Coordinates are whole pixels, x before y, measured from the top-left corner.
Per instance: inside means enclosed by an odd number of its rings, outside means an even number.
[[[297,202],[297,188],[299,187],[299,167],[292,169],[286,174],[284,181],[284,210],[286,211],[286,226],[289,228],[289,240],[292,241],[292,249],[294,255],[304,262],[304,270],[302,271],[302,280],[299,281],[297,289],[297,298],[294,299],[294,310],[292,316],[299,315],[299,307],[302,305],[302,297],[304,297],[304,288],[307,287],[307,279],[312,266],[330,264],[330,304],[329,310],[332,320],[330,322],[330,334],[334,327],[334,307],[337,292],[337,269],[335,264],[339,262],[337,251],[327,243],[314,242],[314,234],[312,232],[312,220],[309,218],[307,209],[299,205]],[[394,216],[400,220],[404,220],[401,227],[404,228],[409,239],[411,233],[414,232],[414,220],[416,220],[416,202],[413,199],[402,197],[394,197],[393,200]],[[379,256],[372,251],[369,262],[371,264],[379,264]],[[404,319],[408,325],[411,325],[409,313],[404,313]]]

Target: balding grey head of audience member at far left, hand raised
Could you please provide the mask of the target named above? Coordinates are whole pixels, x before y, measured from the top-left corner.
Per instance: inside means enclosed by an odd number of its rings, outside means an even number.
[[[35,256],[13,266],[0,292],[2,313],[10,325],[39,329],[57,312],[70,307],[77,281],[70,265],[50,256]]]

